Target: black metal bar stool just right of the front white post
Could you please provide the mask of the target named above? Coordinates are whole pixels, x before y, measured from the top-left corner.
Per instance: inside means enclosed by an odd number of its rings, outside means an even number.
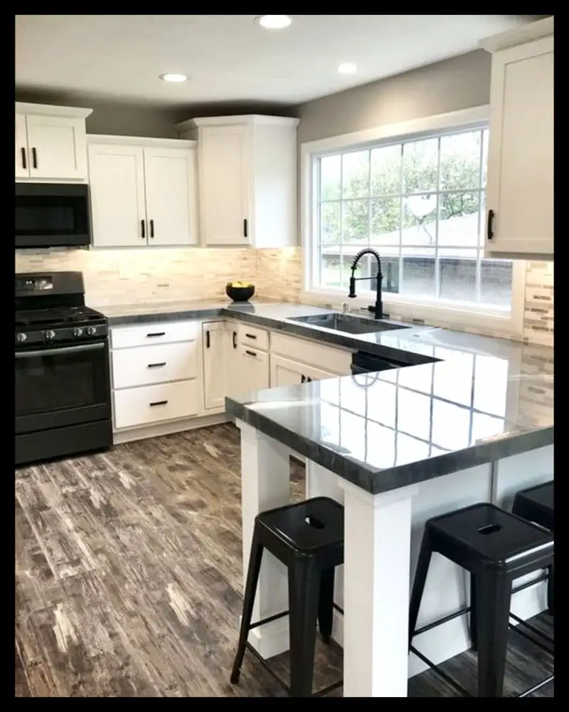
[[[416,630],[433,552],[447,557],[470,572],[471,603],[469,607]],[[469,696],[462,686],[411,643],[415,635],[470,612],[472,643],[478,651],[478,696],[501,697],[504,689],[512,582],[519,576],[550,565],[553,565],[553,535],[541,526],[493,504],[475,504],[428,520],[425,523],[410,600],[410,651],[455,689]],[[551,649],[533,642],[552,653]],[[553,675],[520,696],[527,696],[551,680]]]

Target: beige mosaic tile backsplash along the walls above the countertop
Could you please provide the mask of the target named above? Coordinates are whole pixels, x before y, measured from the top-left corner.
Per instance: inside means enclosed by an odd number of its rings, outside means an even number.
[[[223,298],[231,280],[252,281],[266,300],[298,302],[302,293],[299,247],[16,251],[16,272],[49,270],[82,271],[87,303],[100,308]],[[527,263],[523,341],[553,346],[553,262]]]

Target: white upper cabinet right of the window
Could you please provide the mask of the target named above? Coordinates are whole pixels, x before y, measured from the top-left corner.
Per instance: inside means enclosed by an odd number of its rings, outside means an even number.
[[[551,259],[553,18],[482,46],[492,52],[486,256]]]

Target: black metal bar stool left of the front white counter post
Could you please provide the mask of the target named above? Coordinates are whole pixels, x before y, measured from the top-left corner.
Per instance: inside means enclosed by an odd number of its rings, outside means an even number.
[[[251,624],[263,550],[287,566],[289,610]],[[255,518],[243,616],[231,682],[239,681],[247,648],[292,697],[312,696],[317,622],[329,644],[334,608],[334,568],[344,563],[344,508],[327,497],[262,512]],[[290,688],[248,643],[251,629],[289,615]],[[315,696],[341,686],[339,681]]]

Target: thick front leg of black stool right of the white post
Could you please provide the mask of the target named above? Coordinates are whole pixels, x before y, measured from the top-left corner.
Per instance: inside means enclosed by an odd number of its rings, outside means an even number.
[[[511,580],[493,572],[475,575],[478,696],[501,697],[508,644]]]

